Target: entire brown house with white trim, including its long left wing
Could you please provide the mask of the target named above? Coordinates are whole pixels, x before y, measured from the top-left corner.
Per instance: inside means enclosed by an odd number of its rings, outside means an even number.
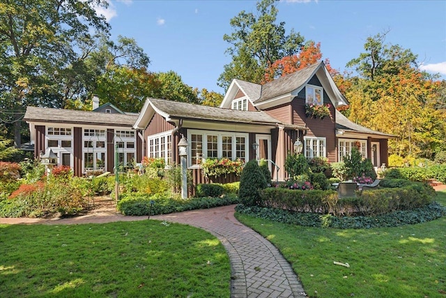
[[[92,112],[28,107],[24,119],[35,156],[51,147],[59,164],[72,166],[77,176],[113,172],[115,154],[121,165],[143,156],[178,164],[177,144],[184,136],[195,185],[237,179],[205,179],[201,164],[206,158],[263,158],[273,178],[284,180],[286,156],[297,140],[308,158],[337,162],[357,147],[375,167],[387,164],[392,135],[349,121],[336,110],[347,104],[321,62],[263,85],[233,80],[220,107],[147,98],[139,114],[128,114],[93,100]],[[326,117],[312,114],[313,105],[323,106]]]

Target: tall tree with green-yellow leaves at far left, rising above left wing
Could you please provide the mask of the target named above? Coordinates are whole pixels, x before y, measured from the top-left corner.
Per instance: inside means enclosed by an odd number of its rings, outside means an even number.
[[[15,145],[20,146],[20,119],[27,105],[61,107],[55,76],[75,66],[75,52],[91,32],[108,33],[105,18],[93,6],[106,0],[6,0],[0,3],[0,110],[13,124]],[[66,70],[69,73],[69,70]],[[10,126],[7,127],[9,133]]]

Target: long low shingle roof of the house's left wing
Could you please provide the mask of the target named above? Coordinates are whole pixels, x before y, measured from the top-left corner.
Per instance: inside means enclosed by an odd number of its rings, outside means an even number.
[[[132,126],[137,114],[108,114],[90,111],[52,109],[49,107],[26,107],[25,121],[54,123],[103,124],[107,126]]]

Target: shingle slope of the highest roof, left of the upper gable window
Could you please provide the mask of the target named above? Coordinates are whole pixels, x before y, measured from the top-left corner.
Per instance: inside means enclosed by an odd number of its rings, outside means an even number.
[[[279,77],[279,79],[268,82],[262,86],[261,96],[255,103],[261,103],[264,100],[275,98],[283,94],[291,93],[295,89],[302,87],[314,74],[314,71],[321,66],[321,63],[313,64],[295,73]]]

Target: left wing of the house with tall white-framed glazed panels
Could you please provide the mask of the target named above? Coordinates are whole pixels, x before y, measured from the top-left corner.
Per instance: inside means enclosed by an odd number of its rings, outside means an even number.
[[[114,172],[118,166],[141,161],[141,139],[133,129],[138,114],[125,113],[112,104],[99,106],[93,97],[93,111],[27,107],[34,156],[47,148],[58,157],[59,165],[72,167],[75,176],[90,172]]]

